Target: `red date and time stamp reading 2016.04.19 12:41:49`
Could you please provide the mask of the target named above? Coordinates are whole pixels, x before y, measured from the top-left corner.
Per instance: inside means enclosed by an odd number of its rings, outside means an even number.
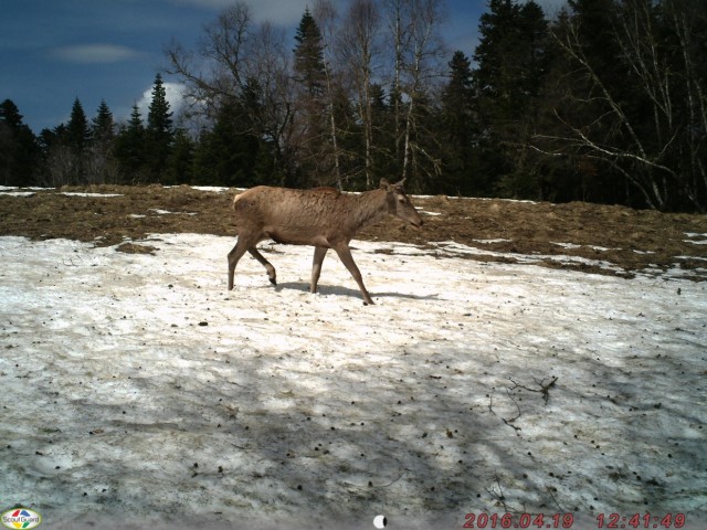
[[[587,526],[591,519],[582,518],[582,528],[573,513],[466,513],[462,528],[476,529],[564,529],[584,530],[602,529],[683,529],[687,518],[684,513],[599,513],[593,519],[595,526]]]

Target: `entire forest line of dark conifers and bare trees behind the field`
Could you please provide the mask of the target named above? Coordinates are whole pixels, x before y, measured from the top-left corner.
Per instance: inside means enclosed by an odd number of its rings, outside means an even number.
[[[489,0],[472,56],[442,0],[315,0],[294,49],[244,3],[172,42],[176,127],[157,75],[146,117],[102,103],[39,137],[0,109],[0,182],[161,182],[582,200],[707,211],[707,3]]]

